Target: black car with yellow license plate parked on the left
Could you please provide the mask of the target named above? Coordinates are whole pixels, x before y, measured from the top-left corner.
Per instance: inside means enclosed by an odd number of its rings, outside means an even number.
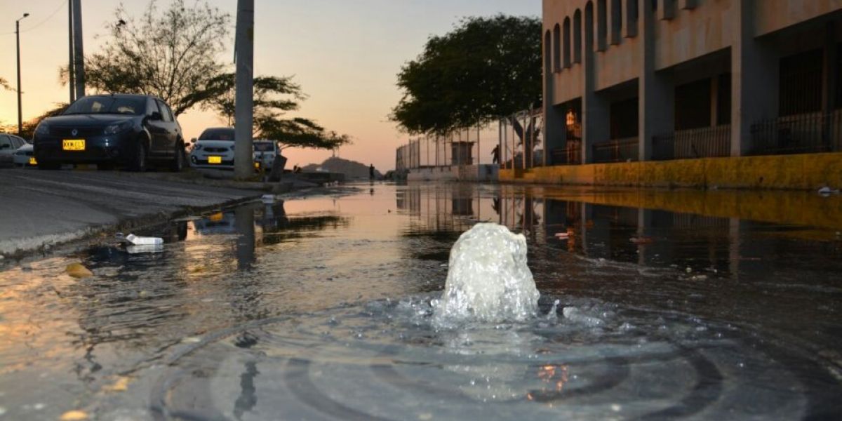
[[[62,163],[125,165],[144,171],[150,162],[184,167],[184,138],[173,112],[149,95],[90,95],[61,115],[41,121],[33,136],[38,168]]]

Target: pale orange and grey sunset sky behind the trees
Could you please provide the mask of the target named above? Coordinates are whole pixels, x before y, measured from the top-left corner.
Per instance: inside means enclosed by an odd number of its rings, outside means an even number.
[[[113,24],[119,4],[83,0],[84,49],[97,51]],[[146,0],[124,2],[139,15]],[[168,0],[159,0],[166,8]],[[191,3],[188,1],[188,3]],[[232,63],[236,0],[209,3],[230,13],[231,42],[221,57]],[[443,35],[465,16],[506,13],[540,16],[541,0],[310,0],[255,2],[255,74],[294,75],[309,98],[296,115],[317,120],[329,130],[354,137],[339,156],[394,168],[395,148],[408,136],[388,121],[401,93],[395,86],[401,65],[418,56],[429,35]],[[67,101],[58,81],[67,64],[67,0],[0,0],[0,77],[15,83],[14,21],[21,21],[21,67],[24,120],[54,103]],[[221,125],[216,115],[190,110],[179,117],[188,137]],[[15,93],[0,91],[0,124],[17,123]],[[321,163],[330,152],[290,150],[289,166]]]

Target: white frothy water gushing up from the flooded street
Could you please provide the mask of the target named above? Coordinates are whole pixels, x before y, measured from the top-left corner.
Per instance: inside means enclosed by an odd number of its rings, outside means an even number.
[[[505,226],[477,224],[450,250],[445,292],[434,324],[523,322],[536,315],[538,289],[526,265],[526,238]]]

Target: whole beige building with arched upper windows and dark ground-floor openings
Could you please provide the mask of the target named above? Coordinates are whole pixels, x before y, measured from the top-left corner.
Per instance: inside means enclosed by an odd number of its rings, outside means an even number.
[[[548,165],[842,150],[842,0],[544,0]]]

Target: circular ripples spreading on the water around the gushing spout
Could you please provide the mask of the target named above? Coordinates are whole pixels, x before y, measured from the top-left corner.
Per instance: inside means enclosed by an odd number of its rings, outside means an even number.
[[[173,356],[153,407],[176,418],[232,419],[839,412],[822,389],[826,370],[813,360],[758,347],[749,332],[717,322],[556,297],[543,299],[544,315],[528,322],[436,329],[433,300],[374,301],[209,335]],[[558,314],[546,314],[551,306]],[[207,403],[203,413],[195,402]]]

